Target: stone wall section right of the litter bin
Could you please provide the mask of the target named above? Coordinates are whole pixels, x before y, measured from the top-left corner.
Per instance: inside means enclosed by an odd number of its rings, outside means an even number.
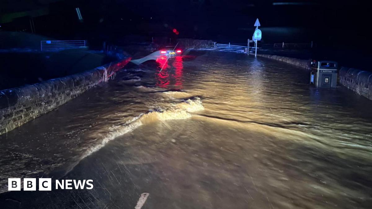
[[[372,72],[341,67],[339,78],[343,86],[372,100]]]

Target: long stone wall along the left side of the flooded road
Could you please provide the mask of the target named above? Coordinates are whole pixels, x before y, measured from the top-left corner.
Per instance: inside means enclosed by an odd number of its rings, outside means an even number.
[[[0,91],[0,135],[74,99],[79,94],[107,82],[130,58],[112,62],[84,73],[42,83]]]

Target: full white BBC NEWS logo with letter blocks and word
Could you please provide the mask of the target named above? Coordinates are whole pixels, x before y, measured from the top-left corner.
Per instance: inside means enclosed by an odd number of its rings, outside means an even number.
[[[8,191],[20,191],[22,188],[20,178],[8,179]],[[39,191],[51,191],[52,179],[41,178],[38,184]],[[93,189],[93,180],[55,180],[55,189]],[[23,191],[36,191],[36,179],[24,178]]]

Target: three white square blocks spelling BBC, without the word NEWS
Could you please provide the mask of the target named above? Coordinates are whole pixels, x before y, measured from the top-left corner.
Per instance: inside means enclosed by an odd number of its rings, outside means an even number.
[[[20,191],[21,190],[21,179],[20,178],[9,178],[8,179],[8,191]],[[36,179],[24,178],[23,179],[23,190],[24,191],[36,191]],[[39,179],[39,191],[51,191],[52,190],[52,179],[45,178]]]

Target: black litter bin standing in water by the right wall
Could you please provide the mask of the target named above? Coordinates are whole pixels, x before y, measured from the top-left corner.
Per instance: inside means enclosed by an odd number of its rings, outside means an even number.
[[[311,62],[310,84],[317,88],[337,87],[337,62],[313,61]]]

